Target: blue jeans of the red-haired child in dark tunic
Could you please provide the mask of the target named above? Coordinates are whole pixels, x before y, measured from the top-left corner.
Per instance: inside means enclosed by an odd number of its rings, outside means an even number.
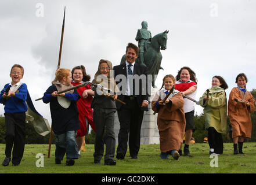
[[[78,146],[75,140],[76,135],[76,131],[67,131],[65,134],[55,135],[55,158],[57,160],[62,161],[65,154],[67,158],[76,159],[79,157]]]

